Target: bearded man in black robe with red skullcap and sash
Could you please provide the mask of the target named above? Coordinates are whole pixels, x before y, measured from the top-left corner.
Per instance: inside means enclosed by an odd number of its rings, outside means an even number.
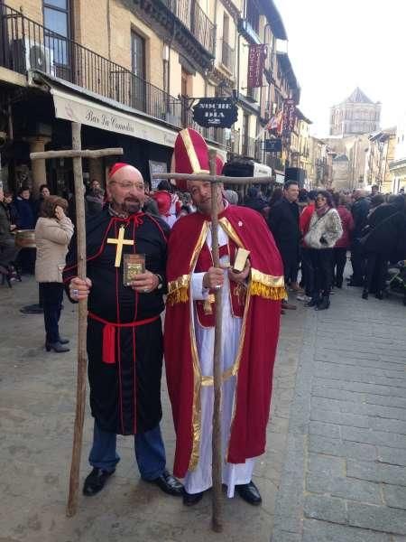
[[[107,182],[109,203],[87,224],[87,275],[78,278],[76,242],[70,244],[64,282],[69,297],[88,296],[88,378],[95,418],[85,495],[101,491],[119,461],[116,435],[134,435],[143,480],[180,495],[165,468],[161,438],[162,293],[169,228],[143,212],[144,183],[129,164],[115,164]],[[145,269],[124,281],[124,257],[145,256]]]

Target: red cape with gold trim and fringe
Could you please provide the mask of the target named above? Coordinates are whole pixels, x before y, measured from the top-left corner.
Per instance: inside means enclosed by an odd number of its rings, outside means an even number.
[[[238,355],[232,371],[227,371],[228,376],[236,376],[235,414],[227,461],[245,463],[265,449],[281,299],[285,294],[283,268],[272,234],[259,213],[229,206],[218,218],[237,246],[251,252],[251,279]],[[164,345],[177,435],[174,473],[179,477],[198,464],[202,378],[191,327],[190,276],[209,226],[207,216],[198,212],[190,214],[175,224],[169,241]]]

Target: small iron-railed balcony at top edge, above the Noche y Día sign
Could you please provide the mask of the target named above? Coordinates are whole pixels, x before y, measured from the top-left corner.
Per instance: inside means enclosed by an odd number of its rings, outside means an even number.
[[[197,0],[162,0],[196,40],[214,55],[216,26],[198,5]]]

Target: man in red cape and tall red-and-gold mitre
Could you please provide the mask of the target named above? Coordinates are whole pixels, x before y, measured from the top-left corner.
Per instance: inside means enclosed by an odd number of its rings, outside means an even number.
[[[208,147],[185,129],[175,144],[177,173],[208,173]],[[211,187],[188,181],[198,211],[176,222],[167,266],[164,350],[176,429],[174,473],[184,477],[186,505],[212,485],[214,291],[222,292],[222,456],[229,497],[251,504],[261,495],[252,481],[254,459],[265,449],[272,369],[279,334],[283,268],[263,217],[218,201],[221,268],[211,253]],[[238,248],[250,251],[242,272],[233,271]]]

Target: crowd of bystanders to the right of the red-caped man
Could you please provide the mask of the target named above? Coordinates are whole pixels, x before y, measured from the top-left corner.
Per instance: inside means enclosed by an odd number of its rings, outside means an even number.
[[[287,181],[268,198],[250,189],[242,204],[263,213],[281,252],[286,285],[316,310],[328,309],[333,289],[342,288],[348,252],[353,272],[347,284],[363,288],[363,299],[383,299],[388,265],[406,258],[404,193],[384,196],[377,186],[371,192],[308,192]],[[286,300],[282,308],[295,305]]]

